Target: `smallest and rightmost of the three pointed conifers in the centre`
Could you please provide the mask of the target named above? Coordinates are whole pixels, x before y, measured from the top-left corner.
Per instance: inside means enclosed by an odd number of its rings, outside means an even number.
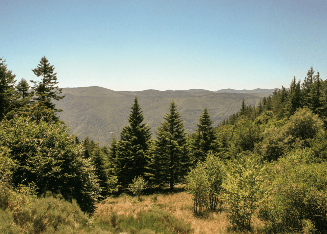
[[[235,121],[235,113],[232,115]],[[214,149],[215,134],[212,127],[213,122],[207,107],[204,108],[197,124],[194,146],[192,147],[192,161],[197,164],[198,161],[204,162],[209,150]]]

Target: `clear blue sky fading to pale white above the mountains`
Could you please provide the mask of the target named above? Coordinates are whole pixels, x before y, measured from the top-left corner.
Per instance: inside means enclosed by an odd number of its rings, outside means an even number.
[[[326,1],[0,1],[0,58],[18,80],[43,55],[59,87],[289,87],[326,79]]]

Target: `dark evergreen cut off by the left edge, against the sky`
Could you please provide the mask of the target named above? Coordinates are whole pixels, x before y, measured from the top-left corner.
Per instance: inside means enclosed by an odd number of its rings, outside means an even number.
[[[16,75],[7,69],[5,62],[6,59],[0,63],[0,121],[14,108],[18,98],[14,89]]]

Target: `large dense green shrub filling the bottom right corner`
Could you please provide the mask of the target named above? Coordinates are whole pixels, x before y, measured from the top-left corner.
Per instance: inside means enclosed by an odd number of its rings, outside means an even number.
[[[271,165],[272,195],[259,212],[269,231],[326,233],[326,162],[317,161],[297,149]]]

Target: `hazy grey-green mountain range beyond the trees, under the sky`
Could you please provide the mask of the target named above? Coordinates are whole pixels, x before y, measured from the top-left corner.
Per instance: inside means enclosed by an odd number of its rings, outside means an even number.
[[[163,122],[163,116],[169,111],[172,99],[180,111],[185,130],[195,132],[198,118],[205,107],[211,114],[214,126],[228,118],[241,108],[243,98],[247,105],[257,105],[264,97],[272,94],[274,89],[235,90],[221,89],[209,91],[204,89],[165,90],[148,89],[143,91],[114,91],[98,86],[63,88],[60,101],[54,101],[62,119],[69,127],[70,133],[77,134],[80,140],[89,136],[100,146],[108,145],[113,136],[119,138],[120,131],[128,125],[130,107],[135,96],[142,107],[145,122],[151,131]]]

